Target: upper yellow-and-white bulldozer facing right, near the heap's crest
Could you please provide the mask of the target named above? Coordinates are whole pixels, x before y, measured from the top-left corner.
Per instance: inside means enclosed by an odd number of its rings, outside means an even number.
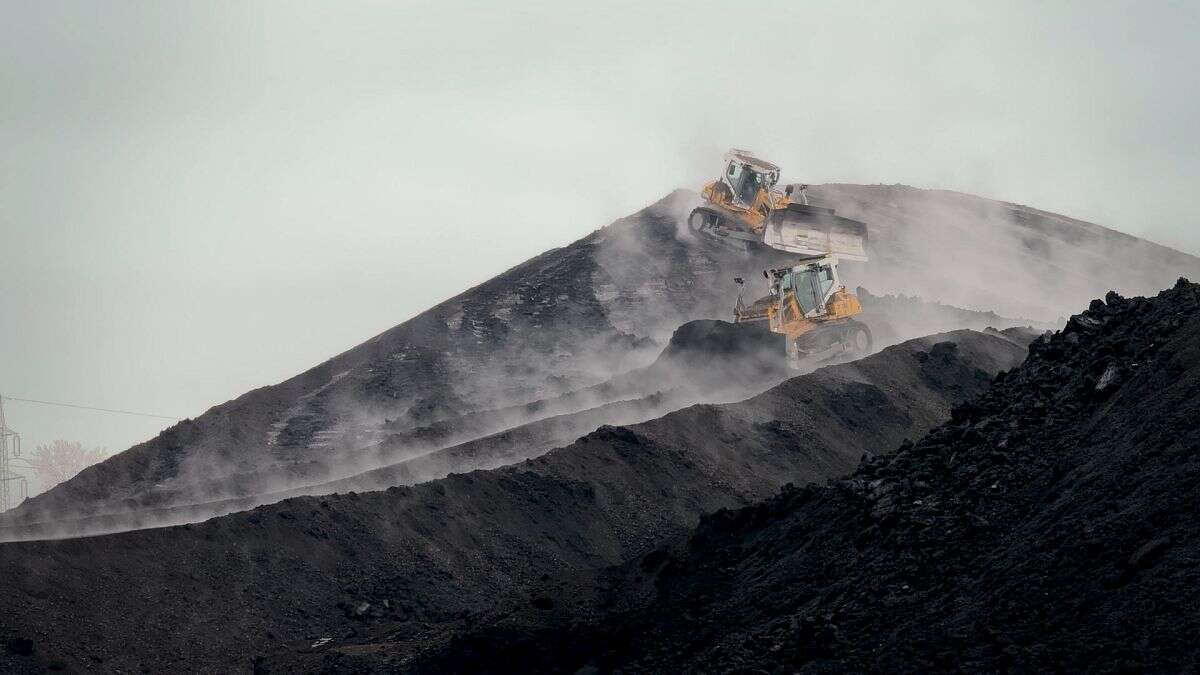
[[[697,235],[750,251],[769,246],[800,256],[836,255],[866,261],[866,226],[809,203],[808,185],[776,190],[778,166],[749,150],[725,154],[725,171],[701,191],[704,203],[688,216]]]

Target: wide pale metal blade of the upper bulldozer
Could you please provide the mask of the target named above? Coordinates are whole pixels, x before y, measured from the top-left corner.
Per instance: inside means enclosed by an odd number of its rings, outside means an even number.
[[[773,249],[802,256],[866,261],[866,225],[821,207],[788,204],[772,213],[762,240]]]

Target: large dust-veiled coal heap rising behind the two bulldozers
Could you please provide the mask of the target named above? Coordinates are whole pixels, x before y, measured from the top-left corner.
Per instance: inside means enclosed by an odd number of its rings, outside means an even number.
[[[844,277],[880,295],[1052,322],[1109,288],[1145,293],[1172,275],[1200,276],[1194,257],[1015,204],[905,186],[826,185],[811,195],[870,223],[871,262],[847,263]],[[454,426],[448,447],[533,422],[521,411],[539,401],[582,407],[538,417],[614,402],[568,394],[652,363],[688,321],[727,318],[734,276],[758,279],[786,262],[696,240],[682,227],[695,202],[676,192],[292,380],[185,420],[0,520],[142,518],[253,497],[344,478],[346,466],[366,468],[358,461],[395,435],[419,440],[422,429],[469,422]],[[913,322],[895,340],[964,327]]]

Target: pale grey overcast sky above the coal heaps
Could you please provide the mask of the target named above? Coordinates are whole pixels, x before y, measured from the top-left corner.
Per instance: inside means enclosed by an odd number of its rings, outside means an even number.
[[[731,145],[1200,252],[1200,4],[484,5],[0,0],[0,394],[199,414]]]

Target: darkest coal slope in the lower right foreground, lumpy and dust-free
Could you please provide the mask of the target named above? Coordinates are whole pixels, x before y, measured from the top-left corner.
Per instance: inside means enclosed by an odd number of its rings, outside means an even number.
[[[916,444],[418,669],[1193,673],[1198,416],[1200,286],[1110,293]]]

